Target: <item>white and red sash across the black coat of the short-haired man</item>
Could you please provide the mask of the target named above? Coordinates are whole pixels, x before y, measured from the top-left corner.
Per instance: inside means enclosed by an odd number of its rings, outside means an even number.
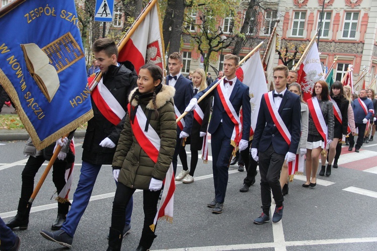
[[[123,107],[104,85],[102,78],[91,93],[91,97],[101,114],[112,124],[118,125],[126,115]]]

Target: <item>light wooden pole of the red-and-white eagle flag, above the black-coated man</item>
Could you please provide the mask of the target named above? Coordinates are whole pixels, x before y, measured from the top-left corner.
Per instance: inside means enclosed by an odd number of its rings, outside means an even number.
[[[144,21],[145,17],[148,15],[148,13],[152,10],[153,6],[157,3],[157,0],[151,0],[148,5],[144,8],[144,10],[140,13],[139,17],[135,20],[135,22],[132,24],[126,35],[122,38],[122,40],[118,43],[118,52],[120,52],[123,47],[126,45],[128,40],[131,38],[131,36],[134,34],[136,29],[139,27],[141,22]],[[89,85],[89,91],[92,92],[93,89],[98,85],[102,78],[102,72],[96,76],[96,78],[90,83]]]

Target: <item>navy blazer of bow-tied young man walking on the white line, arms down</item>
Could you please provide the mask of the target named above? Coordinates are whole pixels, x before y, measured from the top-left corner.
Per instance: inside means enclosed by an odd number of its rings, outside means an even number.
[[[287,90],[281,100],[278,113],[291,133],[291,146],[288,146],[286,140],[275,126],[263,95],[260,100],[258,120],[251,147],[263,152],[272,143],[274,151],[278,154],[285,155],[288,151],[296,154],[301,135],[300,96]]]

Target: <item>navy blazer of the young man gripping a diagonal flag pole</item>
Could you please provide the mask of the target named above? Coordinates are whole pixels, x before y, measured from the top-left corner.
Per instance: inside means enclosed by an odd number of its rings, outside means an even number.
[[[209,87],[204,91],[198,93],[194,98],[199,100],[203,94],[205,94],[218,80],[215,80]],[[229,138],[232,137],[232,132],[234,128],[234,123],[228,116],[227,112],[224,109],[223,104],[221,103],[219,92],[217,88],[212,91],[206,98],[214,96],[214,105],[212,107],[212,116],[210,125],[208,127],[209,133],[214,133],[220,125],[221,119],[223,120],[223,128],[225,135]],[[249,141],[250,136],[250,125],[251,125],[251,108],[250,108],[250,96],[249,96],[249,87],[238,80],[234,83],[233,91],[229,97],[230,103],[237,115],[239,115],[240,108],[242,106],[242,139]]]

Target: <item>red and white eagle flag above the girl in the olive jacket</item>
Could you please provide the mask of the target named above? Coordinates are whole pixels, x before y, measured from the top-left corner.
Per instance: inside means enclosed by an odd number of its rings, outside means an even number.
[[[137,73],[145,63],[156,64],[162,70],[164,69],[164,48],[160,19],[158,4],[154,4],[151,11],[119,52],[118,62],[126,60],[132,62]]]

